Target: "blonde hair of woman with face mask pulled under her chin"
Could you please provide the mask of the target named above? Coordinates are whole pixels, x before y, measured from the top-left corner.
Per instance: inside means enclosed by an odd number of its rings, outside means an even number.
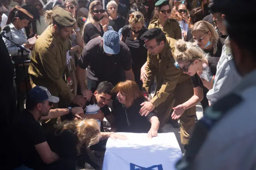
[[[212,42],[213,44],[213,54],[215,54],[217,51],[219,35],[215,28],[212,26],[212,24],[206,21],[198,21],[191,28],[192,34],[197,31],[203,32],[204,34],[208,34],[208,32],[211,32],[212,36],[210,38],[210,42]]]

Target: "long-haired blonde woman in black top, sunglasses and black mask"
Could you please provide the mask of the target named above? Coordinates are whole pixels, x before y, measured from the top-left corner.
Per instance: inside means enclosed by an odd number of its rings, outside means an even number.
[[[102,9],[102,4],[98,0],[91,2],[89,6],[89,14],[84,24],[83,38],[84,44],[87,44],[90,40],[97,37],[103,37],[104,31],[100,20],[104,17],[105,10]]]

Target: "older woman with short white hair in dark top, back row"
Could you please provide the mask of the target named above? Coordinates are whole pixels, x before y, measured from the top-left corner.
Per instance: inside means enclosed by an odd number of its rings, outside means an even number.
[[[109,13],[109,26],[112,26],[116,32],[119,31],[120,28],[123,28],[125,20],[124,18],[118,16],[117,14],[117,4],[114,0],[108,2],[107,10]]]

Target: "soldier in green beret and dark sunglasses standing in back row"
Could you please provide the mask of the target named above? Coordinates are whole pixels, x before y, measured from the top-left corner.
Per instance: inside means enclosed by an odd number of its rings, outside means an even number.
[[[161,28],[166,37],[174,38],[176,40],[182,39],[179,23],[176,20],[169,18],[171,9],[168,1],[159,0],[156,2],[155,6],[155,15],[158,16],[158,19],[152,20],[148,29]]]

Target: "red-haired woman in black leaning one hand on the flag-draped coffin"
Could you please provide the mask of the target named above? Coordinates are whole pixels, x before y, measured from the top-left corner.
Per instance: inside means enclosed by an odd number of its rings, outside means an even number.
[[[113,91],[117,93],[116,100],[112,103],[117,132],[148,133],[150,138],[157,136],[160,123],[156,113],[139,113],[145,98],[136,82],[120,82]]]

